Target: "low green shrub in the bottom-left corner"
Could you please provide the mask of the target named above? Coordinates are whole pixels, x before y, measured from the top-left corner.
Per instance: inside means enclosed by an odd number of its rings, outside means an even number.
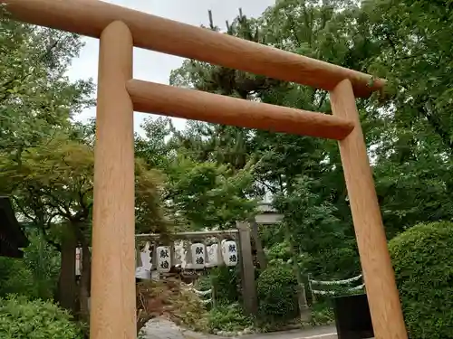
[[[0,338],[82,339],[82,329],[51,302],[12,295],[0,299]]]

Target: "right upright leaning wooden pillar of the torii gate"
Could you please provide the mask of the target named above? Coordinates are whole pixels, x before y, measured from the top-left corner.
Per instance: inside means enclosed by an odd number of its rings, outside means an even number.
[[[407,339],[381,211],[349,80],[331,92],[333,115],[354,121],[340,153],[376,339]]]

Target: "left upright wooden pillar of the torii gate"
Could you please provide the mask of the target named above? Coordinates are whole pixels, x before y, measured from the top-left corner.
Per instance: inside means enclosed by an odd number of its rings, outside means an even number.
[[[92,339],[133,339],[135,227],[132,37],[114,22],[101,33],[92,226]]]

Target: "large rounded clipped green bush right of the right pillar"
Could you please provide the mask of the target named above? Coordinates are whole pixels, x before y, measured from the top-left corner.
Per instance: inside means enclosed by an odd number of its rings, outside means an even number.
[[[453,223],[412,227],[389,248],[410,338],[453,338]]]

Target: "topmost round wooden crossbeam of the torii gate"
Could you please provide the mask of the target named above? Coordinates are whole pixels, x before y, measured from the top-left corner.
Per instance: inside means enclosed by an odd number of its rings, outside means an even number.
[[[232,69],[332,90],[343,79],[352,82],[357,97],[368,97],[385,81],[374,80],[327,62],[284,52],[226,34],[181,24],[98,0],[0,0],[18,20],[99,38],[120,20],[127,24],[134,45],[158,52],[207,61]]]

